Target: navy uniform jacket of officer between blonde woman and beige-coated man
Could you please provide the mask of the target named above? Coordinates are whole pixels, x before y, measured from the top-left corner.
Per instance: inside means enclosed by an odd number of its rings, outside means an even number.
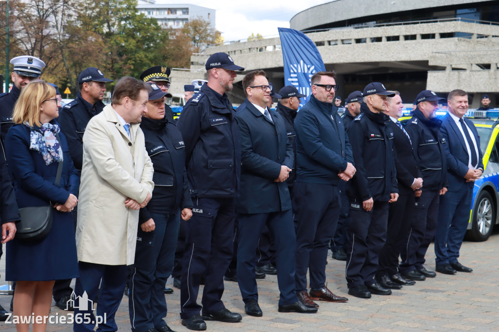
[[[78,92],[76,99],[64,105],[62,112],[57,118],[69,145],[69,154],[77,170],[81,171],[83,163],[83,134],[90,119],[102,112],[104,103],[97,101],[91,105],[81,97]]]

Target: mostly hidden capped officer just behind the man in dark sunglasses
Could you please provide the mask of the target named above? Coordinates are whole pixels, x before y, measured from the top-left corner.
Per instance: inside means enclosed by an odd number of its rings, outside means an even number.
[[[341,121],[343,122],[345,131],[348,130],[348,127],[352,123],[353,119],[360,114],[360,104],[362,104],[362,98],[362,92],[358,90],[348,95],[345,104],[345,112],[341,115]],[[346,261],[346,245],[348,243],[346,225],[348,224],[350,203],[348,196],[346,195],[347,182],[340,179],[338,186],[340,189],[341,209],[338,217],[338,224],[336,225],[336,230],[334,231],[334,236],[329,243],[329,247],[332,251],[332,258],[339,261]]]

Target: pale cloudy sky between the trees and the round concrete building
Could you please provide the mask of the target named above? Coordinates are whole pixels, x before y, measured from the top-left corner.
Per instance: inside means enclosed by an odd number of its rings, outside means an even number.
[[[277,35],[277,27],[289,27],[296,13],[331,0],[156,0],[156,3],[192,3],[216,11],[216,27],[225,41],[246,39],[251,33]]]

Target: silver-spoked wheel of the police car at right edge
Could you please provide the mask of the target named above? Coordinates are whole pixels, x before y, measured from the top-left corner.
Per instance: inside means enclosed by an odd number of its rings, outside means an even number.
[[[472,228],[468,237],[472,241],[486,241],[491,236],[496,222],[496,211],[489,192],[482,190],[478,196],[477,208],[473,211]]]

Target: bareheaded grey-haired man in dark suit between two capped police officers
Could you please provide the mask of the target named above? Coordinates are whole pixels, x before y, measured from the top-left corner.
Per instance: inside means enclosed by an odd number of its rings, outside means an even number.
[[[415,190],[421,188],[423,178],[414,157],[411,138],[399,121],[402,116],[402,99],[398,91],[389,91],[395,96],[388,97],[388,107],[384,112],[390,117],[388,126],[393,130],[395,166],[399,198],[390,204],[388,211],[388,231],[386,242],[379,254],[379,268],[376,280],[385,288],[401,289],[402,285],[414,285],[413,280],[404,279],[398,271],[399,255],[414,219]]]

